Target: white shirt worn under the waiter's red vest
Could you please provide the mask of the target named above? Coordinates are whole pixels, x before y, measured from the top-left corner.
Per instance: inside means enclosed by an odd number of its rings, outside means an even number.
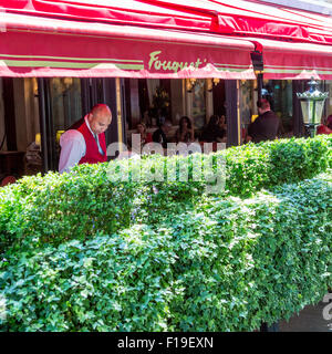
[[[102,155],[104,152],[100,145],[98,135],[94,134],[91,131],[90,124],[87,122],[87,115],[84,117],[84,121],[89,127],[89,131],[95,138],[98,150]],[[60,137],[61,154],[59,160],[59,173],[69,173],[80,159],[86,154],[86,144],[83,137],[83,134],[76,129],[70,129],[63,133]]]

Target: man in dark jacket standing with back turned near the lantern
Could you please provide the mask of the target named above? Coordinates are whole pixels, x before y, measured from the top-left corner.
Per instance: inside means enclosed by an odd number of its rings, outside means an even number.
[[[260,143],[276,139],[281,127],[280,118],[271,111],[270,103],[266,98],[261,98],[257,107],[259,116],[249,125],[247,140]]]

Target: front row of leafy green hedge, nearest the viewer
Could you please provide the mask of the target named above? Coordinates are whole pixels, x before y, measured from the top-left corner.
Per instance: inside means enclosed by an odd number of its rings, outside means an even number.
[[[329,171],[245,200],[203,196],[157,228],[56,247],[27,238],[1,263],[0,329],[252,331],[288,319],[332,284],[331,196]]]

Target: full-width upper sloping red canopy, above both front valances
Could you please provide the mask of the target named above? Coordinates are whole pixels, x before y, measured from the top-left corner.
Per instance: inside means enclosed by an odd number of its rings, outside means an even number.
[[[331,17],[242,0],[0,0],[7,12],[231,35],[332,43]]]

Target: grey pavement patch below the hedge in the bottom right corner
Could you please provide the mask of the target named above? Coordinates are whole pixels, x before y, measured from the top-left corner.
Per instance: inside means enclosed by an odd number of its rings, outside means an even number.
[[[295,313],[289,322],[280,321],[280,332],[332,332],[332,320],[324,320],[323,309],[328,302],[321,301],[317,305],[304,308],[299,315]],[[332,310],[330,310],[332,315]]]

